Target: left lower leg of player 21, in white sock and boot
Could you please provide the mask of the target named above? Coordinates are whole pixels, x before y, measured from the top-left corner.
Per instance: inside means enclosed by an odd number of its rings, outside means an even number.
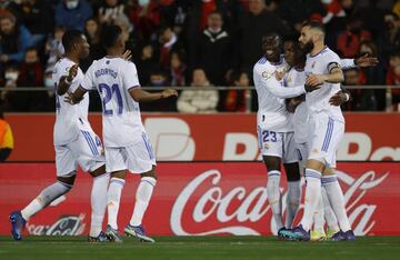
[[[108,210],[108,226],[106,234],[113,242],[122,242],[122,237],[118,232],[118,211],[121,200],[122,189],[126,183],[127,171],[111,172],[110,184],[108,189],[107,210]]]

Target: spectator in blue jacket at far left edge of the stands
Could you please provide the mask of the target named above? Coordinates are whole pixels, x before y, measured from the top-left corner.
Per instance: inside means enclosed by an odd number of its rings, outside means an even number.
[[[18,26],[13,16],[0,18],[0,60],[3,63],[9,61],[21,62],[24,51],[31,47],[31,33],[23,26]]]

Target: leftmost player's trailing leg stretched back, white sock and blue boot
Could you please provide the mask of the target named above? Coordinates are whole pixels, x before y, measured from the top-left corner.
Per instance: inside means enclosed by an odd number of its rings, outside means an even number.
[[[68,177],[57,177],[57,182],[44,188],[26,208],[10,214],[11,234],[14,240],[22,240],[23,228],[32,216],[71,190],[76,179],[76,171],[67,176]]]

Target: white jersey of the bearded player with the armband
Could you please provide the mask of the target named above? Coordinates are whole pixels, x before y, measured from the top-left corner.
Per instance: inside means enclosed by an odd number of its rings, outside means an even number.
[[[341,64],[337,53],[326,47],[319,53],[311,56],[307,54],[306,74],[328,74],[330,67]],[[340,83],[324,82],[320,89],[306,94],[306,103],[311,113],[326,112],[329,117],[344,122],[343,114],[340,107],[334,107],[329,103],[329,99],[340,90]]]

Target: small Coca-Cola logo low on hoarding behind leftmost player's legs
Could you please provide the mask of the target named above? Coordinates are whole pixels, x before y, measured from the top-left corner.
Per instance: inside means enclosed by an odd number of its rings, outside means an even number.
[[[83,233],[86,223],[84,214],[62,216],[51,224],[27,223],[27,230],[34,236],[80,236]]]

